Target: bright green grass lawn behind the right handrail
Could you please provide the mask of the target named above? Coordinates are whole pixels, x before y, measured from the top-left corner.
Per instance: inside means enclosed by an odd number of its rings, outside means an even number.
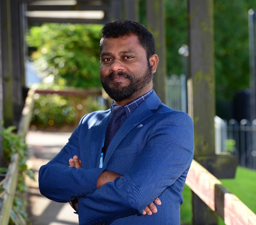
[[[235,179],[221,179],[221,183],[236,195],[248,208],[256,213],[256,170],[238,167]],[[180,207],[181,223],[192,224],[191,190],[185,185],[183,190],[183,204]],[[219,219],[219,225],[224,224]]]

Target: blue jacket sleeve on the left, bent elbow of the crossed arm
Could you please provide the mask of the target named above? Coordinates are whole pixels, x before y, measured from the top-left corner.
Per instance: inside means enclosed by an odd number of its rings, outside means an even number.
[[[82,121],[82,120],[81,120]],[[80,158],[79,134],[81,124],[72,133],[69,142],[49,163],[39,171],[39,189],[42,195],[56,202],[68,202],[72,196],[87,195],[94,192],[102,168],[69,167],[69,159]]]

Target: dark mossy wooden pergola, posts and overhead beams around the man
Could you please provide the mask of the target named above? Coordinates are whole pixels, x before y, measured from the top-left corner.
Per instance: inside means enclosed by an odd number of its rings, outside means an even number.
[[[164,0],[145,0],[145,4],[146,26],[155,37],[156,51],[160,58],[154,76],[154,89],[165,103]],[[188,110],[195,128],[194,158],[217,178],[232,178],[237,159],[215,154],[213,0],[187,0],[187,4],[190,54]],[[88,17],[86,14],[89,11],[98,17]],[[0,12],[0,119],[4,119],[7,127],[18,125],[27,95],[27,49],[24,36],[28,25],[44,22],[105,24],[115,18],[139,21],[139,0],[1,0]],[[63,12],[79,12],[80,17],[75,14],[73,17],[67,17],[67,14],[63,17]],[[0,145],[0,162],[1,148]],[[230,169],[224,170],[227,167]],[[194,224],[217,224],[216,216],[207,210],[206,204],[196,195],[193,195],[193,199]]]

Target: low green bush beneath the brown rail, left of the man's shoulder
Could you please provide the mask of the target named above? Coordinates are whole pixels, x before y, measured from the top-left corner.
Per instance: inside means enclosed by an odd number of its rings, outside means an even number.
[[[56,94],[35,94],[34,110],[32,112],[31,127],[35,129],[46,129],[50,127],[63,128],[76,127],[86,113],[96,110],[105,110],[97,99],[92,96],[64,97]]]

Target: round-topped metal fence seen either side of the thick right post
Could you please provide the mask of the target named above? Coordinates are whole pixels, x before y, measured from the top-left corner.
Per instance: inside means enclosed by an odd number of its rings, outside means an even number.
[[[186,112],[185,78],[172,75],[166,78],[166,104],[173,109]],[[218,116],[215,122],[215,152],[221,154],[231,152],[238,156],[239,165],[256,169],[256,119],[252,122],[242,119],[225,121]]]

